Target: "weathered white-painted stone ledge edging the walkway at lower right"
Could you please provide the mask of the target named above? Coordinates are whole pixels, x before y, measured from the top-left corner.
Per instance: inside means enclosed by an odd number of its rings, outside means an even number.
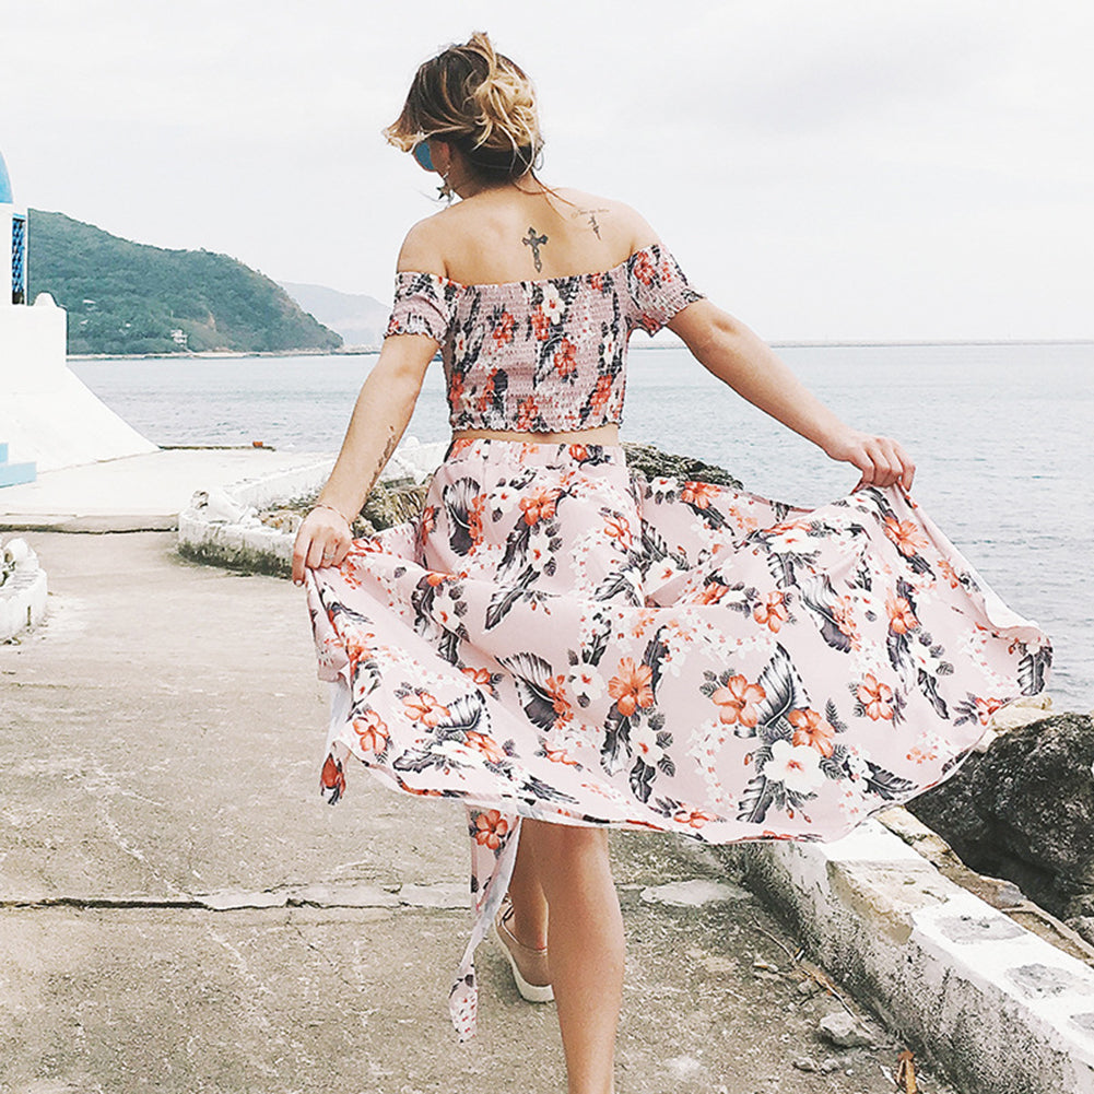
[[[1094,1094],[1094,969],[943,876],[876,819],[720,854],[813,959],[961,1090]]]

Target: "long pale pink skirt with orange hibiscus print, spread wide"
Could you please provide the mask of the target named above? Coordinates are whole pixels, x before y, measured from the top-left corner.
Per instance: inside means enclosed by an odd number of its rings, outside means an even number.
[[[466,806],[461,1039],[521,818],[833,840],[952,775],[1051,663],[899,488],[794,509],[619,445],[455,441],[421,512],[307,593],[327,801],[356,757]]]

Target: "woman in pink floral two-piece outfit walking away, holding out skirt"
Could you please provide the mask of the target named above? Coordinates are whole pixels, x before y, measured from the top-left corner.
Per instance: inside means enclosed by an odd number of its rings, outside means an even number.
[[[385,132],[462,200],[406,237],[295,545],[336,685],[323,790],[338,800],[352,755],[465,803],[456,1027],[474,1032],[493,923],[521,993],[557,1001],[571,1094],[602,1094],[624,969],[608,825],[834,839],[952,773],[993,709],[1043,686],[1049,648],[907,496],[896,441],[819,404],[633,210],[538,181],[531,84],[486,35],[422,65]],[[854,491],[805,512],[628,472],[627,339],[661,326],[854,467]],[[421,513],[354,542],[438,347],[452,444]]]

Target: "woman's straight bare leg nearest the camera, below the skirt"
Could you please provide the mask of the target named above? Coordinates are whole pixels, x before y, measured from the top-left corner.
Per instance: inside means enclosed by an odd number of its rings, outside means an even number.
[[[525,818],[521,843],[550,909],[547,946],[569,1092],[612,1094],[625,945],[608,834]]]

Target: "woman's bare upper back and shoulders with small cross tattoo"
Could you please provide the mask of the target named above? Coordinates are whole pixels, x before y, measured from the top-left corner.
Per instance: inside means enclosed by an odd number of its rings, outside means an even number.
[[[421,221],[400,270],[461,284],[507,284],[614,269],[655,241],[628,206],[569,188],[485,189]]]

